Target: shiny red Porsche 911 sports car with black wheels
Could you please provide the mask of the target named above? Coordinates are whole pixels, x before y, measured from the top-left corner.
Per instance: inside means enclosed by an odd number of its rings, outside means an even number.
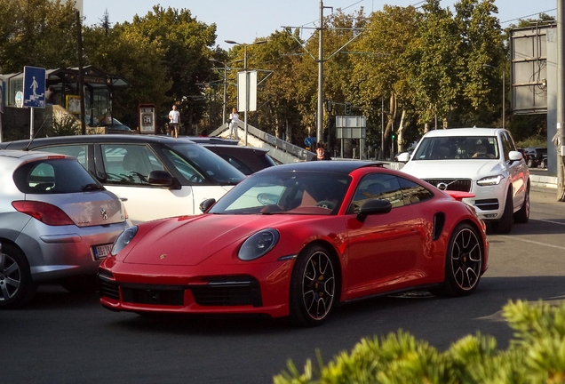
[[[252,174],[204,214],[123,231],[99,268],[118,311],[290,316],[322,324],[348,300],[429,290],[463,296],[488,266],[485,225],[447,193],[362,161]],[[150,207],[147,207],[150,209]]]

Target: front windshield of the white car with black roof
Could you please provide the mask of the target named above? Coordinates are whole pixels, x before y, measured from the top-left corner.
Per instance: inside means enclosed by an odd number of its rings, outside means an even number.
[[[197,179],[200,174],[219,185],[235,185],[245,178],[242,172],[227,163],[220,156],[194,143],[175,143],[171,150],[164,150],[164,156],[187,179]]]

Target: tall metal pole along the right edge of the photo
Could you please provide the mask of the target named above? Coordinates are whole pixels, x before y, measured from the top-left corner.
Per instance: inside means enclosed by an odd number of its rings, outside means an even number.
[[[565,145],[565,135],[563,132],[563,124],[565,123],[565,28],[563,28],[563,21],[565,21],[565,9],[563,2],[557,2],[557,133],[558,140],[557,146],[557,201],[565,201],[565,187],[563,186],[563,156],[561,156],[561,148]]]

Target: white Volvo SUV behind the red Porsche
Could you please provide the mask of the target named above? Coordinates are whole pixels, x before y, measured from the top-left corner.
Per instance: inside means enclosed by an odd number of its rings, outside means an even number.
[[[402,168],[444,190],[473,193],[473,206],[497,233],[513,221],[529,220],[529,170],[510,132],[499,128],[458,128],[427,132]]]

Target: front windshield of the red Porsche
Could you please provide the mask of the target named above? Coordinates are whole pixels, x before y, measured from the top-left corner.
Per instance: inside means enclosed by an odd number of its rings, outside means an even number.
[[[259,172],[243,180],[210,213],[337,214],[349,176],[334,172]]]

